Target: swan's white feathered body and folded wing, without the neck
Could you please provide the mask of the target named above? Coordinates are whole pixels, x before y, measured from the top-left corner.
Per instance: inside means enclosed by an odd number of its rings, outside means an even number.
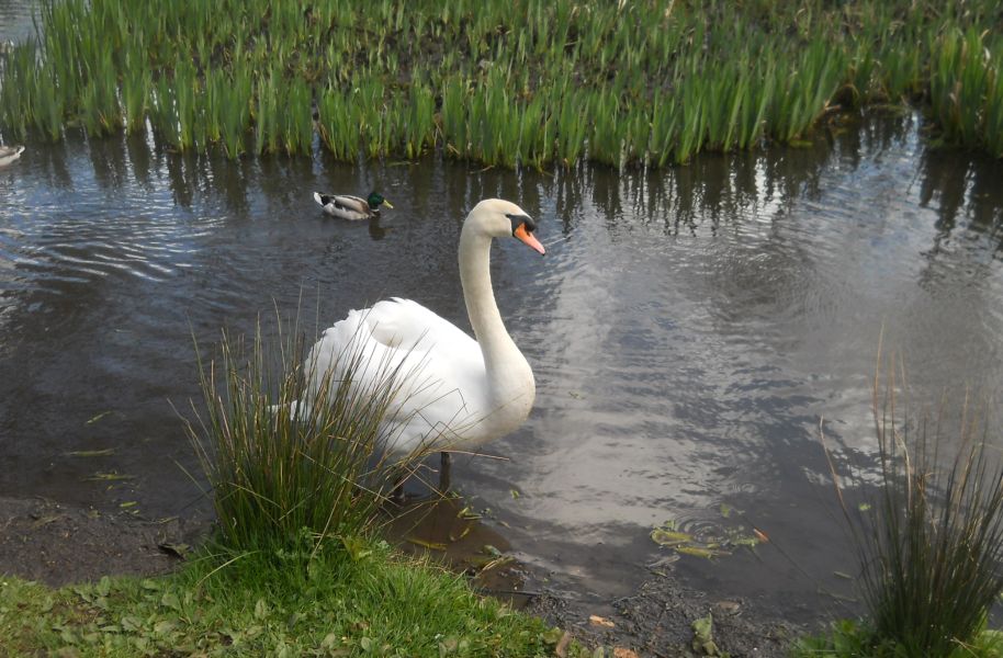
[[[316,381],[329,367],[336,377],[343,376],[350,361],[359,364],[352,382],[362,390],[377,389],[387,373],[402,377],[382,428],[393,452],[425,444],[448,446],[476,427],[484,412],[487,390],[480,345],[410,299],[350,311],[324,332],[309,355]]]

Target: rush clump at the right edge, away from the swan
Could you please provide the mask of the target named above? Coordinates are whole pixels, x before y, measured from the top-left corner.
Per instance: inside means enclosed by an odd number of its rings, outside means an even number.
[[[959,409],[944,405],[935,416],[900,421],[894,368],[883,387],[875,381],[876,499],[852,510],[837,485],[867,623],[844,623],[805,642],[803,654],[832,655],[855,638],[865,656],[988,655],[972,647],[999,649],[985,621],[1003,592],[1003,464],[989,418],[966,399]],[[838,483],[835,468],[833,477]]]

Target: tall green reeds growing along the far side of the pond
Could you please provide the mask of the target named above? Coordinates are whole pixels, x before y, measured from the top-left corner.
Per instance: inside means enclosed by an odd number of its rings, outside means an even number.
[[[833,107],[914,101],[1003,157],[990,0],[64,0],[7,59],[0,129],[148,124],[179,150],[543,168],[685,162],[798,139]],[[109,47],[111,45],[112,47]]]

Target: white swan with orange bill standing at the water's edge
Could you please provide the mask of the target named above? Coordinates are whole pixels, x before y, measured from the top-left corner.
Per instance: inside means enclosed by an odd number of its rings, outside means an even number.
[[[442,452],[440,489],[448,488],[447,450],[475,449],[518,428],[536,396],[533,373],[505,330],[491,283],[494,238],[515,237],[541,254],[536,224],[522,208],[499,198],[478,203],[460,234],[460,282],[476,340],[410,299],[393,298],[351,310],[324,331],[307,356],[311,399],[324,373],[338,381],[347,354],[361,364],[352,386],[379,387],[388,368],[406,379],[380,428],[383,449],[414,454]],[[443,489],[444,490],[444,489]]]

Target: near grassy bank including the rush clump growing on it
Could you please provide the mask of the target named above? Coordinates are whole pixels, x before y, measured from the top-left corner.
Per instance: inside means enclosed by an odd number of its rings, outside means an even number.
[[[54,591],[0,578],[0,654],[553,655],[562,631],[380,538],[381,489],[412,463],[384,464],[377,445],[406,373],[345,350],[338,378],[314,378],[312,341],[294,324],[278,333],[224,333],[215,358],[200,352],[204,398],[185,427],[216,510],[206,545],[155,579]],[[379,376],[360,389],[362,368]]]

